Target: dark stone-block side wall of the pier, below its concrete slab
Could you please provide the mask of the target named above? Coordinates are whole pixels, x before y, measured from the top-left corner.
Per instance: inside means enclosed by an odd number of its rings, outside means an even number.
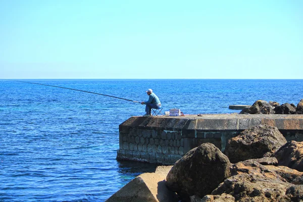
[[[184,137],[182,131],[130,128],[128,133],[119,135],[119,160],[172,165],[202,143],[210,142],[222,149],[220,131],[197,132],[193,137]]]

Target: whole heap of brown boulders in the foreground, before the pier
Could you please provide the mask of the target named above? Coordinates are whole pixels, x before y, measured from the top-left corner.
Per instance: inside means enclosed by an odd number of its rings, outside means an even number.
[[[224,154],[203,143],[174,166],[137,176],[107,201],[180,200],[303,201],[303,142],[258,125],[229,139]]]

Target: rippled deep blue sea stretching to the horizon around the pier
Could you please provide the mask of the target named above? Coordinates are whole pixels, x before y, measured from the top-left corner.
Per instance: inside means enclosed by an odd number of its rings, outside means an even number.
[[[21,80],[139,102],[164,111],[238,113],[258,99],[297,105],[303,80]],[[104,201],[157,165],[116,160],[119,124],[144,106],[124,99],[0,79],[0,201]]]

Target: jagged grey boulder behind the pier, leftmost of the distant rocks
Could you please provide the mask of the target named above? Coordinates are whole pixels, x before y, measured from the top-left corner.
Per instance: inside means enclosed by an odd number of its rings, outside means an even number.
[[[240,114],[274,114],[273,107],[265,100],[257,100],[248,109],[244,108]]]

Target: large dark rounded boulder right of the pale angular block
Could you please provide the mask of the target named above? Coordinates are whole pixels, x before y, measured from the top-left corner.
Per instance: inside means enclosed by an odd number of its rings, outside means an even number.
[[[214,144],[203,143],[178,160],[166,177],[167,187],[184,201],[210,194],[230,176],[228,158]]]

